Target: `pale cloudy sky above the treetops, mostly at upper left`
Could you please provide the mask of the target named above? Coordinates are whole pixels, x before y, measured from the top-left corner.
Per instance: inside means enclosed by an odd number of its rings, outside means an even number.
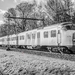
[[[33,0],[0,0],[0,24],[3,23],[3,14],[9,9],[9,8],[14,8],[16,7],[17,4],[19,4],[22,1],[28,1],[28,2],[32,2]],[[47,1],[47,0],[36,0],[37,3],[39,3],[40,1]],[[73,0],[75,1],[75,0]]]

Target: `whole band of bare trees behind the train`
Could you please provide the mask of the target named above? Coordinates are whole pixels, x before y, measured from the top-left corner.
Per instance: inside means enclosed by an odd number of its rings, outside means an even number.
[[[0,36],[16,34],[19,32],[44,27],[60,22],[75,23],[75,11],[71,0],[48,0],[39,5],[36,0],[33,3],[22,2],[15,8],[10,8],[4,14],[4,24],[0,26]],[[38,18],[38,20],[13,19],[8,17]]]

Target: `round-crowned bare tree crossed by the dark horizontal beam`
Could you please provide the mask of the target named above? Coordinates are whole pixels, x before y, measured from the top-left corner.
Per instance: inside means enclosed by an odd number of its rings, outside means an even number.
[[[18,4],[16,6],[16,9],[18,10],[20,17],[27,18],[28,15],[32,13],[33,6],[34,4],[29,4],[25,2],[25,3]],[[25,19],[21,20],[21,25],[22,25],[22,30],[25,31],[26,30],[26,20]]]

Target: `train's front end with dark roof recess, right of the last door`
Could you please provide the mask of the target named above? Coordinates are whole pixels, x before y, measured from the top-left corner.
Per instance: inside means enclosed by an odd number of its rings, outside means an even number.
[[[63,45],[75,53],[75,25],[72,23],[63,24],[64,27],[64,43]]]

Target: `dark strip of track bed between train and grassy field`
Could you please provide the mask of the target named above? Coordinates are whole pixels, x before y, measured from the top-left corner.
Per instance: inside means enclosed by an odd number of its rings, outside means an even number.
[[[0,49],[6,49],[6,48],[0,47]],[[34,55],[58,58],[58,59],[63,59],[63,60],[75,61],[74,54],[50,53],[50,52],[46,52],[46,51],[27,50],[27,49],[18,49],[18,48],[17,49],[11,48],[11,50],[9,50],[9,51],[23,52],[23,53],[28,53],[28,54],[34,54]]]

